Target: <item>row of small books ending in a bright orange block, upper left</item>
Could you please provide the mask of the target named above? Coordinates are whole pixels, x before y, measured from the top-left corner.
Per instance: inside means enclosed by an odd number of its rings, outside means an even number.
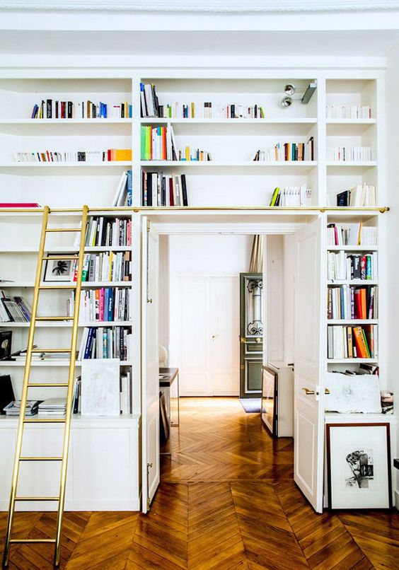
[[[132,161],[132,149],[107,149],[106,151],[35,151],[16,152],[17,162],[85,162],[103,163]]]

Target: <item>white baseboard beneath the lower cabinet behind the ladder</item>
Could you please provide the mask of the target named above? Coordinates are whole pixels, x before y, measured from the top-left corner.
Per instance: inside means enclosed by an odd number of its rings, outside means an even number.
[[[18,511],[57,511],[57,506],[49,503],[30,502],[18,505]],[[65,511],[139,511],[140,499],[71,499],[65,501]],[[0,501],[0,511],[8,511],[8,501]]]

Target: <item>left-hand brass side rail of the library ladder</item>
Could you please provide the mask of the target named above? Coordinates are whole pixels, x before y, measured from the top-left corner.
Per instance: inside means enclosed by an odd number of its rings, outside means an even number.
[[[36,277],[35,277],[35,289],[33,292],[33,302],[32,302],[32,311],[30,315],[30,325],[29,325],[29,333],[28,333],[28,346],[26,349],[26,359],[25,359],[25,370],[23,373],[23,387],[21,392],[21,407],[20,407],[20,414],[18,418],[18,431],[17,431],[17,438],[16,438],[16,453],[14,456],[14,465],[13,465],[13,475],[11,478],[11,493],[10,493],[10,503],[8,507],[8,519],[7,519],[7,528],[6,528],[6,544],[4,547],[4,557],[3,557],[3,564],[4,566],[8,565],[8,559],[10,554],[10,540],[11,540],[11,532],[13,528],[13,518],[15,514],[16,508],[16,491],[18,485],[18,475],[19,475],[19,458],[21,456],[21,449],[22,449],[22,439],[23,439],[23,428],[25,425],[25,412],[26,412],[26,401],[28,400],[28,383],[30,377],[30,364],[32,361],[32,351],[33,351],[33,340],[35,338],[35,320],[37,314],[37,304],[39,301],[39,286],[40,280],[42,277],[42,257],[45,252],[45,240],[46,240],[46,229],[48,223],[48,216],[50,213],[50,208],[45,206],[43,211],[43,219],[42,219],[42,233],[40,235],[40,245],[39,245],[39,254],[37,257],[37,269],[36,269]]]

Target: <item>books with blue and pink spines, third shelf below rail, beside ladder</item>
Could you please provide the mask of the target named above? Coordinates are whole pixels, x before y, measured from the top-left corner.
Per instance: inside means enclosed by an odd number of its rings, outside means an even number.
[[[106,322],[130,320],[131,291],[127,287],[101,287],[81,291],[79,320]],[[75,297],[67,299],[67,316],[74,315]]]

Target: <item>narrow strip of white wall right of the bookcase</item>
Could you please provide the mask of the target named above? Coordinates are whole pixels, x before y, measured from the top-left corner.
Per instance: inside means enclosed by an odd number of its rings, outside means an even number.
[[[399,93],[399,47],[388,57],[386,72],[386,107],[387,107],[387,134],[386,148],[388,152],[388,212],[386,223],[388,226],[388,390],[394,392],[394,405],[396,413],[399,406],[399,373],[398,373],[398,335],[393,332],[398,328],[399,322],[399,163],[395,159],[399,152],[399,106],[395,100]],[[383,204],[385,205],[385,204]],[[399,429],[398,429],[399,439]],[[398,450],[393,450],[393,456],[398,457]],[[396,485],[396,506],[399,508],[399,477]]]

